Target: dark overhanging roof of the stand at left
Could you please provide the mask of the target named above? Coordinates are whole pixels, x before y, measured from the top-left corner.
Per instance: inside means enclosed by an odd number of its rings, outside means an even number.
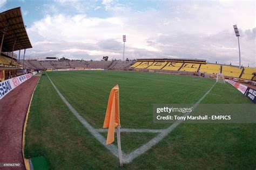
[[[21,7],[0,13],[0,31],[0,43],[5,33],[2,51],[12,51],[14,43],[14,51],[32,48],[23,23]]]

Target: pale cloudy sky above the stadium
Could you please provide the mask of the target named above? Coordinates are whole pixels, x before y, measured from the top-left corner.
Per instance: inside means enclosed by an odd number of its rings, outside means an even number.
[[[190,58],[255,67],[256,1],[0,0],[21,6],[33,46],[26,58]],[[17,53],[17,52],[16,52]]]

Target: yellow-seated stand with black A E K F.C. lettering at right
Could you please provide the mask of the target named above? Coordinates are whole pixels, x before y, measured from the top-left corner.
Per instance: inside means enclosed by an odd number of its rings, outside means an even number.
[[[244,78],[248,80],[252,80],[254,78],[253,73],[256,72],[255,68],[251,67],[239,69],[238,66],[206,63],[206,60],[178,58],[137,59],[137,62],[130,67],[138,71],[142,69],[140,71],[154,70],[154,72],[172,72],[178,74],[184,74],[184,72],[193,74],[204,73],[209,75],[223,73],[225,77]]]

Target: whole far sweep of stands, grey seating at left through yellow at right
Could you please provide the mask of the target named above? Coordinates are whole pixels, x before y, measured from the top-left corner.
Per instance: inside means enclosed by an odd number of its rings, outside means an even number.
[[[0,58],[3,60],[3,58]],[[255,68],[220,65],[206,63],[199,59],[138,59],[137,61],[85,61],[85,60],[25,60],[24,66],[30,69],[56,70],[56,69],[109,69],[109,70],[133,70],[151,72],[171,72],[198,76],[202,73],[222,73],[225,77],[242,78],[252,80]]]

